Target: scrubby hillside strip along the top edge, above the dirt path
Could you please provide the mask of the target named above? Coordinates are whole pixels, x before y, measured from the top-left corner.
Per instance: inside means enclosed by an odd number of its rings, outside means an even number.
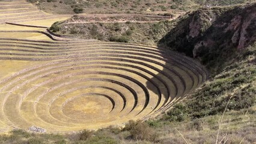
[[[145,0],[145,1],[81,1],[81,0],[28,0],[49,13],[179,13],[195,10],[200,5],[236,5],[255,0]]]

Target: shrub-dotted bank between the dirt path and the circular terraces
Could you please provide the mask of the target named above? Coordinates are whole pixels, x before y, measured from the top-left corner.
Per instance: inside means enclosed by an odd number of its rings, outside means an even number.
[[[163,20],[156,23],[55,23],[50,30],[60,35],[70,37],[97,39],[103,41],[118,41],[124,43],[139,43],[156,45],[168,31],[173,28],[173,22]]]

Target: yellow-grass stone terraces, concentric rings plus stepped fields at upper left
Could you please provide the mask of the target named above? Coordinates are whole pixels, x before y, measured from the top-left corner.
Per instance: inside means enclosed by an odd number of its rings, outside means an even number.
[[[0,5],[0,23],[47,27],[55,20],[40,17],[43,12],[25,1]],[[0,30],[1,131],[32,125],[76,131],[147,119],[208,78],[198,62],[160,47],[69,40],[45,28],[0,25]]]

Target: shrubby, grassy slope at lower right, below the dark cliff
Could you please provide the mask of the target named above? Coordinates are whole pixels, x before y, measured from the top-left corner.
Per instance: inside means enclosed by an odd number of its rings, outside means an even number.
[[[217,131],[227,143],[254,143],[256,107],[256,43],[236,58],[224,62],[224,68],[209,82],[174,106],[156,121],[148,121],[165,142],[181,143],[177,128],[192,143],[215,143]],[[226,113],[224,113],[226,112]],[[221,115],[224,120],[219,126]],[[171,125],[171,126],[170,126]],[[178,126],[177,126],[178,125]],[[163,130],[171,133],[164,134]],[[167,143],[166,142],[166,143]]]

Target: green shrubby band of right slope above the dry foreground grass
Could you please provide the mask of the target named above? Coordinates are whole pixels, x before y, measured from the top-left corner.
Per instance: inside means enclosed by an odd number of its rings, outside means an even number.
[[[251,53],[248,54],[248,53]],[[254,57],[256,44],[245,52],[237,54],[237,58],[227,62],[221,73],[213,80],[201,86],[201,89],[191,94],[189,100],[182,105],[174,106],[165,120],[175,121],[178,116],[187,115],[192,119],[209,115],[219,115],[224,112],[227,101],[231,101],[228,110],[242,110],[256,104],[256,66],[250,64],[249,58]],[[182,114],[182,115],[181,115]],[[182,120],[182,117],[180,118]]]

